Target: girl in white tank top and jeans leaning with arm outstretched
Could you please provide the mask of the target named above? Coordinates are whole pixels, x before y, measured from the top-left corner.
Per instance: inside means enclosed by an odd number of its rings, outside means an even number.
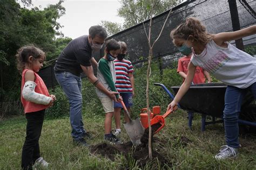
[[[234,32],[209,34],[205,26],[193,17],[187,18],[171,31],[174,45],[183,54],[193,52],[188,73],[176,97],[168,109],[177,108],[178,102],[190,88],[196,66],[203,67],[218,80],[226,83],[224,123],[227,145],[221,146],[216,159],[234,157],[238,153],[238,117],[242,97],[251,90],[256,98],[256,59],[231,45],[228,41],[241,39],[256,33],[256,25]]]

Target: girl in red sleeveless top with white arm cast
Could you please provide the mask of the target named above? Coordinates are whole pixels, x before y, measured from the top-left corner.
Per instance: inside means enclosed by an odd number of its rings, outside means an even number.
[[[39,137],[41,136],[44,111],[49,108],[55,95],[49,95],[43,80],[37,74],[43,67],[45,53],[35,46],[24,46],[16,54],[17,68],[22,74],[21,101],[24,107],[26,139],[22,148],[22,169],[32,169],[32,166],[48,166],[40,155]]]

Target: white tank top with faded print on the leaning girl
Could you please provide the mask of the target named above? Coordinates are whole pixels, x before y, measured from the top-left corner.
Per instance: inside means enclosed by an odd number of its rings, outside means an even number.
[[[213,40],[208,42],[201,54],[193,54],[191,62],[227,85],[242,89],[251,86],[256,82],[256,58],[229,42],[226,44],[227,48],[224,48]]]

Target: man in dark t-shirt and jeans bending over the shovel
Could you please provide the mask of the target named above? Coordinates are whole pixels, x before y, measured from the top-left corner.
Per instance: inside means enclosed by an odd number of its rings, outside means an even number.
[[[116,92],[107,90],[97,77],[93,74],[92,65],[97,67],[97,61],[92,57],[93,51],[102,48],[107,37],[106,30],[99,25],[91,26],[89,36],[81,36],[73,39],[60,53],[54,67],[55,77],[64,93],[69,98],[70,124],[73,141],[77,144],[87,146],[84,137],[89,134],[84,129],[82,121],[82,81],[81,73],[99,90],[116,101]]]

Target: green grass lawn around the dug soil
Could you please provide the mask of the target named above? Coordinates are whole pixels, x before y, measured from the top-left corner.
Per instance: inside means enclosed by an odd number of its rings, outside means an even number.
[[[87,140],[90,145],[104,141],[103,116],[90,117],[89,113],[85,113],[84,124],[93,136],[93,139]],[[172,169],[256,169],[255,136],[240,138],[242,147],[237,158],[217,161],[213,156],[221,145],[225,145],[223,125],[207,125],[204,133],[200,131],[200,125],[200,116],[197,114],[193,121],[193,131],[189,130],[186,113],[176,111],[166,118],[166,126],[156,134],[161,142],[154,144],[154,150],[172,163]],[[0,122],[0,169],[20,168],[25,128],[24,116]],[[90,153],[89,148],[74,146],[70,131],[68,117],[44,121],[39,144],[42,157],[50,162],[49,169],[122,169],[123,165],[138,169],[136,162],[126,160],[123,155],[117,154],[115,160],[111,161],[102,155]],[[181,140],[183,137],[190,139],[190,142],[185,145]],[[129,141],[124,129],[121,139]],[[143,169],[161,167],[149,163]]]

